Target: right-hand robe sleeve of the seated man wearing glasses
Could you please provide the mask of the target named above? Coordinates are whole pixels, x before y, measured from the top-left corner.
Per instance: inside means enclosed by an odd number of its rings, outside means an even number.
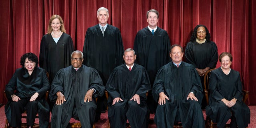
[[[91,70],[90,74],[90,88],[94,88],[96,92],[93,94],[93,97],[103,96],[105,91],[105,86],[103,86],[102,79],[98,74],[96,69]]]

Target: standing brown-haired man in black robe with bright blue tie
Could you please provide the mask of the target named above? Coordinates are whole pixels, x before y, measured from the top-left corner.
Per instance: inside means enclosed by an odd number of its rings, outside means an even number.
[[[146,68],[151,85],[154,83],[159,68],[170,62],[168,55],[170,39],[168,33],[157,26],[158,18],[157,10],[149,10],[147,12],[148,26],[138,31],[134,40],[134,51],[138,55],[135,63]],[[154,102],[151,92],[148,94],[147,104],[150,113],[154,113],[157,104]]]

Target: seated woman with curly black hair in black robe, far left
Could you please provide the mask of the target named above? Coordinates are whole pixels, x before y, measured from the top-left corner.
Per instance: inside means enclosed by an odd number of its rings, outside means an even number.
[[[50,120],[49,105],[45,93],[50,89],[47,73],[38,67],[38,57],[26,53],[20,58],[20,65],[6,85],[8,103],[5,114],[11,127],[20,128],[24,107],[27,112],[27,126],[34,126],[38,112],[40,128],[48,128]]]

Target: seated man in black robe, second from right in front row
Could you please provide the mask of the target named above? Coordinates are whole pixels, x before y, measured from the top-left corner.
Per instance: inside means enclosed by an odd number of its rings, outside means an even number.
[[[172,45],[172,62],[162,66],[156,75],[152,95],[158,102],[154,117],[158,128],[172,128],[177,122],[183,128],[204,128],[200,78],[192,64],[182,61],[183,54],[181,46]]]

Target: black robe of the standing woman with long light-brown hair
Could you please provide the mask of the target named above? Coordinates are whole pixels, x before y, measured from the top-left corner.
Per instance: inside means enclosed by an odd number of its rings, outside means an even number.
[[[40,44],[39,65],[50,77],[50,83],[58,70],[71,65],[70,58],[74,51],[74,44],[70,35],[62,33],[57,44],[51,34],[42,37]]]

